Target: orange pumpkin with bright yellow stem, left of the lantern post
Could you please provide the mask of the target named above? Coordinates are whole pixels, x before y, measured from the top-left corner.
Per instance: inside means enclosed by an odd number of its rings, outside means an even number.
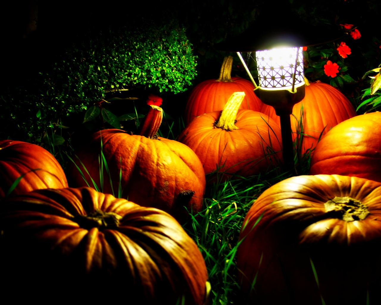
[[[222,111],[195,118],[178,138],[197,154],[206,175],[248,177],[281,162],[280,128],[265,114],[239,109],[244,96],[233,93]]]

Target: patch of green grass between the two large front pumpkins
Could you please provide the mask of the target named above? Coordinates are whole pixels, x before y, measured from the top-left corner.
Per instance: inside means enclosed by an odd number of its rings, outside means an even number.
[[[211,284],[211,305],[245,302],[235,265],[239,232],[256,198],[269,186],[288,177],[274,172],[249,178],[232,177],[208,187],[204,209],[183,225],[205,259]]]

